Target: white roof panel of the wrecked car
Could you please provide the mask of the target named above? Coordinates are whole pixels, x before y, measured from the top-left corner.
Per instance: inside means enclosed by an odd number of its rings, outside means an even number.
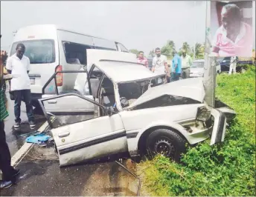
[[[152,73],[143,64],[126,61],[100,60],[95,66],[101,70],[114,83],[127,83],[153,79],[159,75]]]

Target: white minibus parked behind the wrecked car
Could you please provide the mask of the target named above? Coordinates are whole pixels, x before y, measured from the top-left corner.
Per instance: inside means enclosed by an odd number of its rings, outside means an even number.
[[[86,49],[116,50],[129,53],[127,48],[117,41],[66,30],[55,24],[39,24],[20,28],[13,39],[9,56],[16,52],[18,43],[25,44],[25,56],[31,60],[29,77],[34,107],[39,106],[37,100],[42,98],[42,87],[55,72],[80,70],[87,64]],[[76,75],[59,73],[56,78],[59,92],[74,87]]]

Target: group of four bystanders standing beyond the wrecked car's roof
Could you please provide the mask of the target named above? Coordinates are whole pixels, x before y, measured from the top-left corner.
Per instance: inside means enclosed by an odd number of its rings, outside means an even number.
[[[191,56],[189,56],[185,50],[182,50],[182,56],[174,50],[173,59],[171,60],[171,69],[168,67],[167,57],[161,55],[159,47],[155,50],[156,56],[152,61],[152,72],[156,74],[164,74],[166,76],[167,83],[170,81],[178,81],[180,78],[187,79],[190,75],[190,67],[192,65]],[[143,51],[138,53],[138,63],[144,64],[148,67],[148,60],[144,57]]]

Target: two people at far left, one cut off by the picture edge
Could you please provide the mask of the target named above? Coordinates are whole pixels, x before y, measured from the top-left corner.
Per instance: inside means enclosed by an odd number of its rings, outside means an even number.
[[[17,129],[21,124],[21,102],[22,99],[25,101],[28,121],[31,129],[36,125],[33,117],[33,107],[31,104],[31,88],[30,79],[28,76],[30,70],[30,60],[24,56],[25,45],[17,44],[16,53],[7,59],[6,69],[10,75],[9,78],[4,76],[4,67],[1,56],[0,64],[0,170],[2,177],[0,180],[0,190],[10,187],[16,181],[16,177],[19,175],[19,170],[14,169],[11,166],[10,150],[6,142],[6,135],[4,132],[4,119],[9,116],[7,111],[7,98],[5,96],[6,81],[10,80],[10,90],[14,96],[14,114],[15,124],[14,127]]]

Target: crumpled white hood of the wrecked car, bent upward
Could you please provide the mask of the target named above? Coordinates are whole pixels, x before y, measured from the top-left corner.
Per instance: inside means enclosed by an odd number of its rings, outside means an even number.
[[[138,106],[138,104],[143,104],[163,95],[182,96],[203,102],[205,99],[205,88],[203,81],[200,78],[173,81],[168,84],[151,87],[136,101],[129,105],[127,109],[131,109],[135,106]]]

